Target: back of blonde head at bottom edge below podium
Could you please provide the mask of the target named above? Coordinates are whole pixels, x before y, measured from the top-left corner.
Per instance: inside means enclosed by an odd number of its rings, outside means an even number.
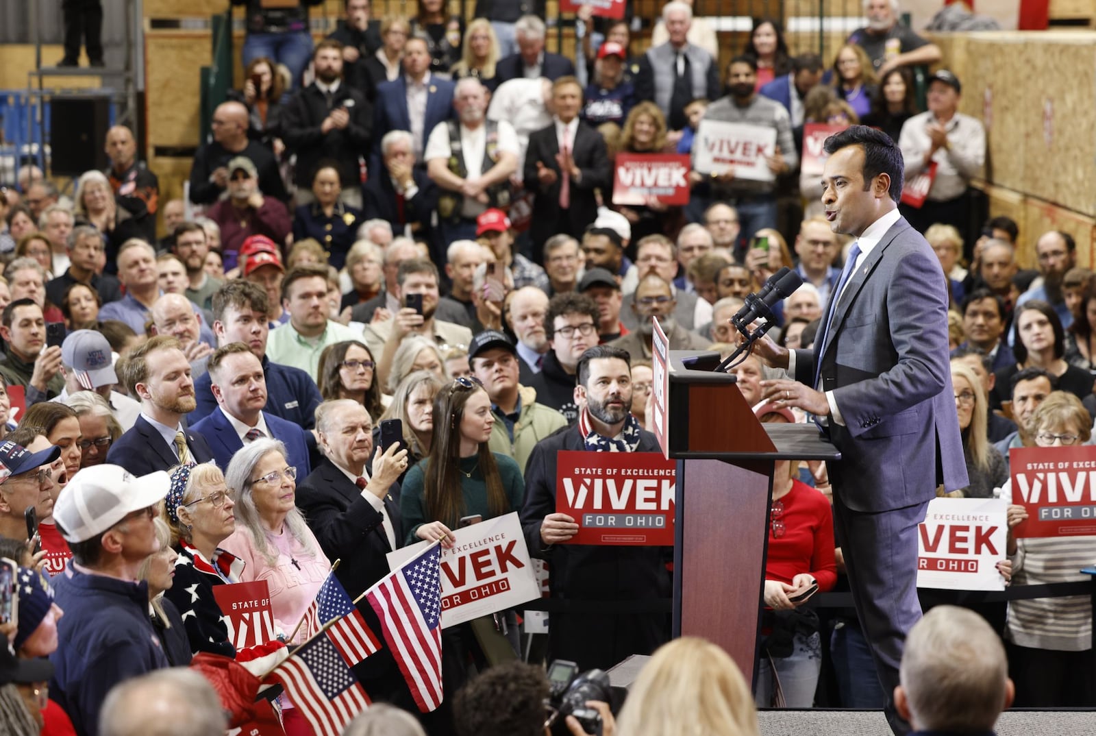
[[[617,736],[757,736],[750,686],[715,644],[683,636],[664,644],[628,693]]]

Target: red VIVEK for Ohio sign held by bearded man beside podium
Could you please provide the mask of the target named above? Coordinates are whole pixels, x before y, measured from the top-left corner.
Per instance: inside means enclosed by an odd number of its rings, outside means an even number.
[[[569,544],[673,546],[675,461],[567,450],[557,467],[556,510],[579,523]]]

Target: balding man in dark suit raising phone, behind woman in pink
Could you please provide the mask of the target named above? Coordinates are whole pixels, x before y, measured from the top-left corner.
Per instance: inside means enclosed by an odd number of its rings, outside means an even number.
[[[388,575],[385,555],[400,546],[400,511],[396,478],[407,469],[407,450],[393,444],[374,457],[373,420],[357,401],[324,401],[316,411],[324,458],[297,485],[297,506],[331,559],[341,559],[335,577],[357,598]],[[299,476],[298,476],[299,477]],[[366,601],[358,604],[375,632],[380,621]],[[411,693],[387,648],[354,667],[374,700],[413,707]]]

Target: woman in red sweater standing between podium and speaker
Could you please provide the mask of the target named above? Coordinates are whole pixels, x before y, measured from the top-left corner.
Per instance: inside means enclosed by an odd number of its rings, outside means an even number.
[[[757,409],[762,421],[794,421],[788,409]],[[773,506],[765,556],[763,641],[757,648],[758,707],[811,707],[822,666],[818,615],[801,607],[837,581],[833,511],[817,488],[799,480],[799,463],[779,461],[773,472]],[[776,702],[774,702],[776,701]]]

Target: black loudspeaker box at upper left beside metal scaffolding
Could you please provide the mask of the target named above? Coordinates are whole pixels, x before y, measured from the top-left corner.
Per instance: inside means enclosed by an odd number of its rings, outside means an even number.
[[[53,98],[49,101],[50,172],[79,177],[107,166],[106,131],[111,101],[106,98]]]

